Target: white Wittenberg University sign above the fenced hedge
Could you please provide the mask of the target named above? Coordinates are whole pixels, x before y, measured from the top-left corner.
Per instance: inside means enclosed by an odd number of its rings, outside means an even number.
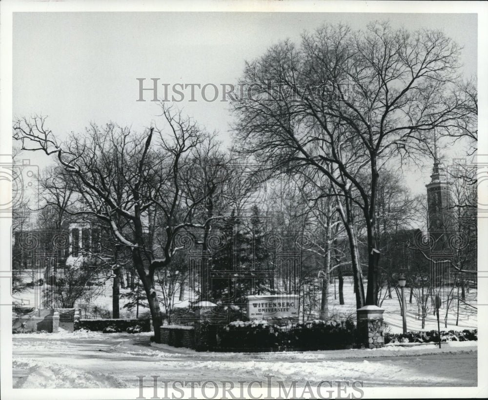
[[[247,296],[247,316],[249,319],[298,319],[299,296],[277,294]]]

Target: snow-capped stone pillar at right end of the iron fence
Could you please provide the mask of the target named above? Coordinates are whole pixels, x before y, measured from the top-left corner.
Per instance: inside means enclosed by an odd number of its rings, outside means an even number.
[[[383,308],[376,305],[365,305],[356,310],[359,338],[366,348],[379,348],[385,345],[385,337],[383,336],[384,311]]]

